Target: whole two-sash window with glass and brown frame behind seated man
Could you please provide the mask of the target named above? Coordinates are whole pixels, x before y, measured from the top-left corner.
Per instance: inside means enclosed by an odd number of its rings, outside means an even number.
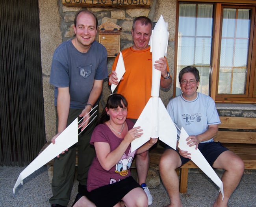
[[[256,101],[255,7],[178,4],[176,95],[180,93],[178,73],[193,65],[200,72],[198,92],[215,102]]]

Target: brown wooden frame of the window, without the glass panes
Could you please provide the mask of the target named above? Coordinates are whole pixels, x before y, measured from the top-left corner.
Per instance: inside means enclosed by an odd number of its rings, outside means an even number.
[[[216,1],[216,0],[178,0],[177,1],[177,12],[176,12],[176,19],[179,19],[179,3],[214,3],[214,10],[213,10],[213,39],[212,39],[212,52],[211,52],[211,68],[210,68],[210,96],[216,103],[256,103],[256,12],[252,14],[252,22],[250,27],[250,40],[249,43],[249,52],[248,52],[248,66],[247,73],[247,83],[246,83],[246,94],[217,94],[218,91],[218,76],[219,76],[219,57],[220,57],[220,50],[221,50],[221,26],[222,26],[222,9],[228,6],[237,6],[244,7],[244,6],[254,6],[253,9],[256,9],[256,0],[237,0],[236,3],[230,0],[223,0],[223,1]],[[243,5],[241,5],[243,4]],[[252,8],[250,8],[252,9]],[[178,37],[178,22],[176,23],[176,38]],[[175,41],[175,64],[174,64],[174,77],[177,74],[177,41]],[[249,81],[248,81],[249,80]],[[176,78],[174,78],[174,86],[176,87]],[[174,87],[174,88],[175,88]],[[174,90],[173,96],[176,95],[176,91]]]

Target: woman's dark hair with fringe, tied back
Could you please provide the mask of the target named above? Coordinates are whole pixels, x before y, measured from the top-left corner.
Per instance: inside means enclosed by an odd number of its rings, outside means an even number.
[[[109,120],[109,116],[106,112],[106,108],[107,109],[116,109],[117,107],[122,108],[123,107],[122,104],[124,104],[125,107],[127,107],[127,105],[128,105],[124,96],[122,96],[121,94],[118,94],[118,93],[111,94],[108,97],[107,104],[105,105],[105,107],[100,115],[98,124],[103,124],[104,122],[107,122]]]

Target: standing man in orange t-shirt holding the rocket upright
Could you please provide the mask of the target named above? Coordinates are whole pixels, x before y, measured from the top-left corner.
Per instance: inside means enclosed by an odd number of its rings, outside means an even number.
[[[112,66],[112,72],[109,76],[109,84],[118,85],[117,93],[122,94],[128,102],[127,118],[134,122],[139,118],[149,98],[151,97],[152,84],[152,53],[148,45],[150,40],[153,23],[148,17],[137,17],[132,25],[132,38],[134,45],[122,50],[124,67],[126,72],[117,81],[115,68],[119,55],[115,58]],[[160,37],[161,38],[161,37]],[[160,86],[170,87],[172,78],[169,73],[168,63],[165,57],[161,57],[155,62],[154,67],[161,71]],[[149,168],[148,151],[136,155],[136,169],[138,182],[144,188],[148,196],[148,205],[152,204],[152,196],[145,185]]]

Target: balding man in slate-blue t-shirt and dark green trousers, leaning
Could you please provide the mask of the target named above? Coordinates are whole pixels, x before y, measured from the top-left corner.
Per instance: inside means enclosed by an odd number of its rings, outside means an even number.
[[[79,11],[74,19],[76,36],[60,44],[54,52],[50,74],[50,83],[55,86],[54,103],[57,118],[53,143],[76,117],[82,118],[87,115],[99,101],[103,79],[108,76],[108,55],[106,48],[95,41],[97,28],[98,20],[93,13]],[[96,110],[97,108],[92,112]],[[83,123],[87,118],[89,115],[83,119]],[[87,192],[87,174],[95,157],[95,150],[89,142],[96,122],[97,119],[94,119],[78,137],[79,185],[76,200]],[[85,126],[86,123],[81,130]],[[71,146],[68,152],[63,152],[54,160],[53,196],[49,200],[52,207],[66,207],[69,203],[76,167],[75,146]]]

